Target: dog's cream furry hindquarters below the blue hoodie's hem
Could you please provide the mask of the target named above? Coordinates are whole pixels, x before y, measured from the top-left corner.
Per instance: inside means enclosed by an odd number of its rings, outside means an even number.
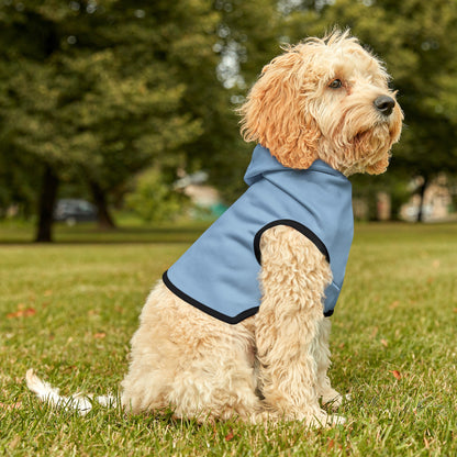
[[[122,403],[133,413],[169,406],[177,417],[248,421],[260,408],[252,320],[221,322],[160,282],[132,338]]]

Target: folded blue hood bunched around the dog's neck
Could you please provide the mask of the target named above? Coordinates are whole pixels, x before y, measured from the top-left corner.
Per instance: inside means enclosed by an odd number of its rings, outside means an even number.
[[[328,175],[345,178],[345,176],[342,172],[335,170],[330,165],[325,164],[325,161],[320,159],[315,160],[311,165],[311,167],[308,168],[308,170],[322,171]],[[271,155],[269,149],[258,144],[253,152],[253,157],[250,159],[250,164],[246,169],[244,181],[248,186],[252,186],[259,179],[278,171],[293,171],[293,174],[305,174],[308,170],[285,167],[282,164],[279,163],[279,160],[276,157]]]

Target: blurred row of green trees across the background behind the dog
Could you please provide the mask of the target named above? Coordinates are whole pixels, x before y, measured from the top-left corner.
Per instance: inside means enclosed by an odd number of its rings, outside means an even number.
[[[423,194],[456,176],[454,0],[1,0],[0,211],[49,241],[58,197],[91,200],[112,227],[126,194],[175,208],[172,182],[199,169],[230,203],[253,147],[236,107],[281,43],[335,24],[386,60],[405,112],[389,174],[356,177],[356,194],[397,207],[411,178]]]

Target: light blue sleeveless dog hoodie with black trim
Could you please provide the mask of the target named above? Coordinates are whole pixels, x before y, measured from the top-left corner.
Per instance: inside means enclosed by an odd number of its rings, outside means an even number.
[[[246,192],[164,274],[165,285],[199,310],[236,324],[260,306],[261,234],[289,225],[331,265],[323,312],[332,315],[354,233],[349,180],[322,160],[305,170],[283,167],[257,145],[245,181]]]

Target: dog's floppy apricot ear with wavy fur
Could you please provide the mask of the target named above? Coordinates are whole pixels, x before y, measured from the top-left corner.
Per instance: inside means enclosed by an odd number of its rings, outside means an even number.
[[[296,49],[263,69],[239,109],[242,134],[267,147],[286,167],[309,168],[317,158],[321,132],[306,109],[303,56]]]

